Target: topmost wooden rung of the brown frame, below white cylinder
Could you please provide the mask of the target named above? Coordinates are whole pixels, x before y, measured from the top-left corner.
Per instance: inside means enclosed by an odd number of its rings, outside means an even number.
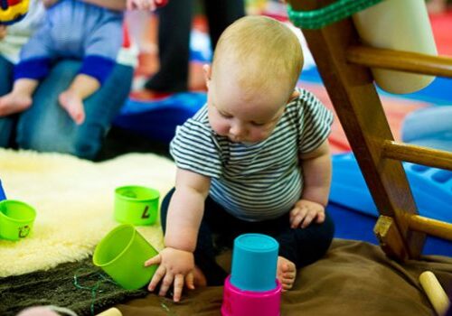
[[[419,52],[391,51],[368,46],[351,46],[347,61],[386,70],[400,70],[424,75],[452,78],[452,58]]]

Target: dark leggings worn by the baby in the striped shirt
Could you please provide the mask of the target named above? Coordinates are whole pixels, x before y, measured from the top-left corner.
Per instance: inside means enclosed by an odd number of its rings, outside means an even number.
[[[174,189],[162,202],[162,228],[166,229],[168,205]],[[279,256],[292,261],[297,268],[310,265],[325,255],[334,236],[334,223],[325,214],[321,224],[311,223],[307,228],[290,228],[288,213],[275,219],[250,222],[233,217],[220,204],[208,197],[204,203],[204,215],[199,229],[194,263],[205,274],[208,285],[222,285],[228,275],[215,256],[221,246],[231,247],[241,234],[260,233],[274,237],[279,243]],[[218,238],[213,238],[218,236]]]

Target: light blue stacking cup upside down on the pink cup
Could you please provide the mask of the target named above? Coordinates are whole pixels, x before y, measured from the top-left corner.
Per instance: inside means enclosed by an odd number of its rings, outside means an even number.
[[[262,234],[235,238],[231,283],[242,291],[264,292],[277,287],[278,241]]]

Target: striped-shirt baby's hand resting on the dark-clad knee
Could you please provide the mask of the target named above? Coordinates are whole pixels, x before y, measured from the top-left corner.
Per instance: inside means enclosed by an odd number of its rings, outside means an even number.
[[[310,200],[298,200],[294,209],[290,211],[291,228],[307,228],[315,219],[315,223],[325,220],[325,207]]]

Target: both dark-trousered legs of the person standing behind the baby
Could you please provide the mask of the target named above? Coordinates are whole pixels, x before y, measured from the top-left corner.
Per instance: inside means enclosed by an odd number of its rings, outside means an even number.
[[[245,15],[245,5],[243,0],[203,0],[202,3],[213,50],[224,29]],[[157,11],[160,68],[147,80],[146,89],[155,92],[188,89],[193,7],[194,0],[171,0]]]

